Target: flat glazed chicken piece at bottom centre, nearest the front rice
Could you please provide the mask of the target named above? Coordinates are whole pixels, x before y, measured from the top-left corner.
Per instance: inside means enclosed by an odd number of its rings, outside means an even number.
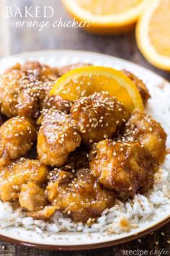
[[[52,171],[49,179],[48,200],[74,221],[85,223],[114,203],[115,192],[104,189],[88,169],[81,168],[75,174]]]

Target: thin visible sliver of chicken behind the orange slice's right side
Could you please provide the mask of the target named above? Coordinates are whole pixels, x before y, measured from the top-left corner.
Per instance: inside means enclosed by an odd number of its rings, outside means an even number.
[[[151,98],[151,95],[149,94],[144,82],[128,70],[123,69],[122,72],[134,82],[134,84],[138,88],[141,98],[143,99],[143,104],[146,105],[148,99]]]

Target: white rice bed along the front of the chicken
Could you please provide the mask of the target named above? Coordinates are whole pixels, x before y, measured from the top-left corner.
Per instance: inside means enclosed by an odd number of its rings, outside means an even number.
[[[60,232],[104,232],[120,234],[138,228],[140,223],[152,221],[159,215],[160,210],[167,210],[170,205],[170,181],[169,166],[170,159],[155,174],[153,189],[146,195],[136,194],[132,200],[125,203],[115,201],[115,206],[103,211],[95,223],[90,227],[81,222],[75,223],[70,218],[64,218],[63,213],[57,211],[49,222],[34,220],[25,217],[22,210],[12,210],[9,202],[0,201],[0,228],[8,226],[23,226],[24,229],[34,230],[37,233],[42,231]],[[169,207],[170,210],[170,207]]]

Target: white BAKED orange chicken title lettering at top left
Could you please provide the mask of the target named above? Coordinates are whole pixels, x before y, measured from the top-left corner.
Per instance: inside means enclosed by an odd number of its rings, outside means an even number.
[[[12,9],[12,7],[6,7],[6,17],[14,18],[16,27],[37,27],[41,32],[45,27],[90,27],[91,23],[88,21],[78,22],[74,18],[73,20],[66,20],[60,17],[58,20],[52,20],[57,12],[53,7],[24,7],[20,9]]]

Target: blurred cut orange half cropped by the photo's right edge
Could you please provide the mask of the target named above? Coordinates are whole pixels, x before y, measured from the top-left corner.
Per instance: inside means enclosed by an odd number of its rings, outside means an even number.
[[[154,66],[170,71],[170,1],[151,1],[136,27],[143,56]]]

